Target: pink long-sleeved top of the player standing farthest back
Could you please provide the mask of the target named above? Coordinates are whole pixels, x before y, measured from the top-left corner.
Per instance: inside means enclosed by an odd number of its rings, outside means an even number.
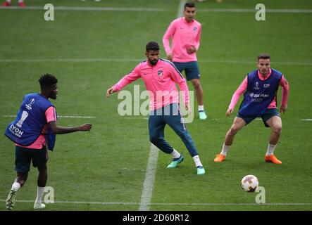
[[[170,49],[170,38],[172,37],[173,49]],[[163,35],[163,46],[167,56],[173,54],[173,62],[186,63],[197,61],[196,51],[199,49],[201,39],[201,24],[193,20],[187,23],[185,18],[177,18],[170,23],[166,33]],[[187,48],[194,46],[196,51],[187,53]]]

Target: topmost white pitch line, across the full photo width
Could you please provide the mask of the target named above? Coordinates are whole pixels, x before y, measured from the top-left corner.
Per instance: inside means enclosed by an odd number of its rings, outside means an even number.
[[[44,10],[44,6],[0,6],[0,9],[6,10]],[[166,8],[139,8],[139,7],[85,7],[85,6],[54,6],[56,11],[127,11],[127,12],[163,12]],[[254,8],[204,8],[198,9],[204,13],[256,13]],[[182,12],[182,11],[181,11]],[[266,13],[312,13],[312,9],[294,9],[294,8],[266,8]]]

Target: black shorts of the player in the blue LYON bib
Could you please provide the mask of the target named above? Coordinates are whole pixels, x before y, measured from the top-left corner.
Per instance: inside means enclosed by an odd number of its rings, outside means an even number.
[[[48,160],[48,151],[46,146],[42,149],[23,148],[15,146],[15,170],[16,172],[27,173],[30,171],[30,162],[33,167],[46,164]]]

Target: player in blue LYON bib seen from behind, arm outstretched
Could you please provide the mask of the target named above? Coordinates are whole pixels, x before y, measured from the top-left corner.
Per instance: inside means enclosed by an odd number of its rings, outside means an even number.
[[[44,209],[42,195],[48,179],[46,163],[48,151],[54,149],[56,134],[75,131],[89,131],[92,124],[80,127],[60,127],[54,105],[49,98],[56,99],[58,80],[54,75],[45,74],[39,79],[41,93],[26,94],[16,119],[6,127],[6,136],[15,143],[15,170],[17,177],[6,199],[6,208],[13,210],[17,191],[27,181],[30,162],[38,168],[37,198],[34,209]]]

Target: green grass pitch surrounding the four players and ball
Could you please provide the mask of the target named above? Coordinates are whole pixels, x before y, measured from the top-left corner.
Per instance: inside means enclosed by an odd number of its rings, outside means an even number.
[[[163,33],[177,16],[180,1],[26,1],[27,6],[46,3],[163,10],[55,11],[55,20],[46,22],[44,11],[0,9],[2,134],[13,120],[4,116],[17,113],[24,94],[39,91],[37,79],[46,72],[58,78],[58,99],[53,101],[58,115],[95,117],[59,118],[58,124],[64,127],[85,122],[94,127],[89,133],[57,136],[48,163],[47,186],[54,188],[55,200],[86,203],[54,203],[46,210],[138,210],[151,146],[147,120],[143,116],[120,117],[117,108],[121,100],[116,94],[106,99],[105,93],[144,60],[148,41],[161,44]],[[308,0],[262,3],[270,9],[312,9]],[[196,19],[202,24],[198,58],[208,120],[195,117],[187,128],[206,174],[196,175],[182,141],[166,128],[166,139],[185,155],[185,162],[177,169],[166,169],[170,156],[159,153],[151,210],[312,210],[312,121],[302,120],[312,118],[312,13],[267,13],[266,21],[257,22],[255,13],[205,11],[254,9],[256,4],[254,0],[197,4]],[[256,68],[260,52],[271,54],[272,67],[283,72],[290,85],[282,136],[275,150],[283,164],[264,162],[270,130],[260,120],[239,132],[225,162],[215,163],[213,158],[220,152],[238,108],[232,117],[225,117],[232,93],[247,72]],[[164,57],[163,48],[161,53]],[[132,85],[125,89],[133,92]],[[14,155],[13,143],[1,135],[0,210],[6,210],[4,200],[15,178]],[[247,174],[256,175],[260,186],[266,188],[266,203],[280,205],[252,205],[257,193],[245,193],[240,188]],[[17,195],[17,200],[26,202],[18,202],[14,210],[32,210],[27,200],[35,200],[36,191],[37,169],[32,167]],[[283,205],[286,203],[295,205]]]

